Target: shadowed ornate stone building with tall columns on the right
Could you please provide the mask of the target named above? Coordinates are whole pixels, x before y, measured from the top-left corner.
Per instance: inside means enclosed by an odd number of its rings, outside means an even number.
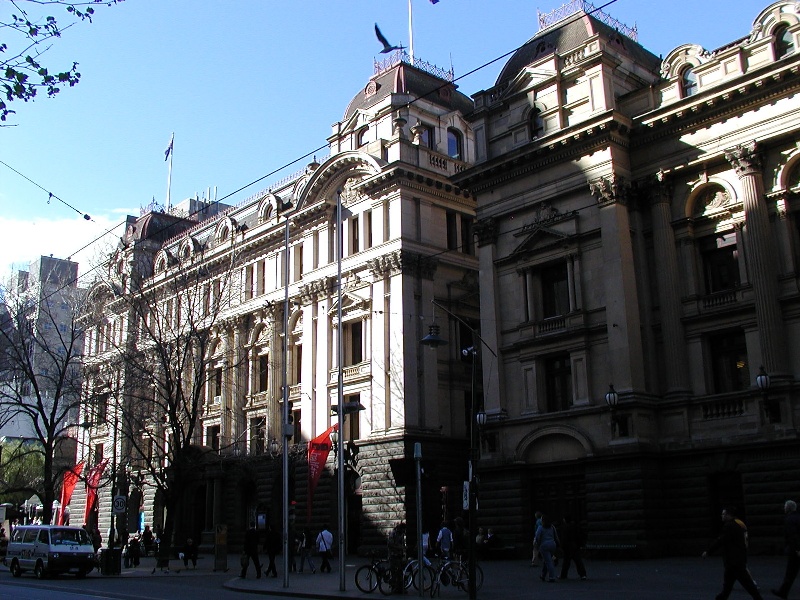
[[[451,181],[478,202],[500,357],[481,520],[518,547],[544,510],[595,547],[686,552],[723,503],[780,547],[800,469],[798,11],[662,60],[572,2],[473,95],[476,164]]]

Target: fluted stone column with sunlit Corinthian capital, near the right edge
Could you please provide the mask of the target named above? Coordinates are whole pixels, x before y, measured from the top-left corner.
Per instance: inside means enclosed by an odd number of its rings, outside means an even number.
[[[783,318],[778,304],[778,278],[775,265],[777,256],[769,223],[769,211],[764,199],[761,156],[756,143],[749,142],[726,150],[725,158],[736,170],[742,185],[744,222],[747,228],[745,242],[755,296],[761,362],[770,375],[785,375],[786,344]],[[751,373],[755,368],[756,365],[751,365]]]

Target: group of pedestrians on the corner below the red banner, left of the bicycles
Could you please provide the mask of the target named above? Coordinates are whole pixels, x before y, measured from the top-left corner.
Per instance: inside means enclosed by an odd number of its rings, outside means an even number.
[[[244,548],[242,551],[242,571],[240,577],[245,579],[247,577],[247,570],[250,563],[256,570],[256,579],[261,578],[262,565],[258,558],[258,543],[260,534],[256,529],[254,522],[250,523],[250,528],[244,534]],[[280,531],[272,525],[267,526],[264,537],[264,551],[267,553],[269,562],[267,568],[263,569],[266,577],[278,576],[278,569],[276,566],[275,558],[280,554],[283,546]],[[318,554],[322,561],[319,567],[320,573],[330,573],[333,571],[331,567],[331,558],[333,558],[333,534],[325,525],[316,535],[311,533],[309,529],[304,529],[302,532],[296,532],[293,529],[289,531],[289,570],[292,572],[303,573],[304,568],[308,565],[311,573],[316,573],[317,568],[314,564],[313,555]],[[299,557],[300,564],[298,566],[296,559]]]

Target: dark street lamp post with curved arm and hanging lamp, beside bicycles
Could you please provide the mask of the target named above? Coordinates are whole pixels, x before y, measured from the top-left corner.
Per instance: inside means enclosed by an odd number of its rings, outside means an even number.
[[[461,317],[456,315],[455,313],[451,312],[436,300],[431,300],[434,306],[438,306],[448,315],[456,319],[462,325],[467,327],[472,332],[472,346],[468,348],[464,348],[461,352],[463,356],[471,356],[472,357],[472,372],[471,372],[471,401],[470,401],[470,422],[469,422],[469,473],[468,473],[468,489],[467,489],[467,496],[468,496],[468,516],[469,516],[469,539],[467,540],[467,547],[469,551],[469,557],[467,562],[467,578],[468,578],[468,592],[469,592],[469,599],[475,600],[477,597],[477,585],[476,585],[476,566],[475,566],[475,533],[477,531],[477,523],[478,523],[478,458],[479,458],[479,448],[477,444],[477,427],[479,424],[484,424],[486,422],[486,413],[483,410],[479,410],[479,406],[475,401],[475,393],[476,393],[476,367],[477,367],[477,355],[478,355],[478,342],[483,344],[485,348],[491,352],[495,358],[497,358],[497,353],[492,350],[489,345],[481,338],[478,334],[477,330],[472,327],[469,323],[464,321]],[[447,344],[447,341],[439,337],[439,326],[438,325],[431,325],[429,329],[428,335],[426,335],[420,343],[424,346],[428,346],[429,348],[438,348],[440,346],[444,346]],[[421,569],[421,566],[420,566]]]

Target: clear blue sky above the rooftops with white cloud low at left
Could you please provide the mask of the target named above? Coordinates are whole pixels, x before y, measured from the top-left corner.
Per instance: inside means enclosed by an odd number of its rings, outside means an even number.
[[[413,0],[414,53],[452,64],[459,77],[530,39],[537,9],[562,3]],[[714,50],[744,37],[769,4],[615,0],[604,11],[636,25],[639,42],[666,55],[685,43]],[[62,10],[50,12],[66,20]],[[11,4],[0,0],[0,11],[5,20]],[[0,161],[92,220],[48,203],[46,192],[0,164],[2,279],[12,264],[41,254],[73,256],[87,272],[102,248],[76,254],[80,248],[153,198],[164,202],[172,132],[173,203],[208,188],[213,196],[215,187],[221,199],[324,146],[382,56],[374,23],[392,43],[408,45],[409,37],[408,0],[126,0],[96,11],[94,23],[70,28],[46,54],[52,68],[77,61],[81,83],[52,100],[17,103],[14,126],[0,127]],[[490,87],[504,62],[459,80],[459,89]],[[306,162],[224,202],[239,203]]]

